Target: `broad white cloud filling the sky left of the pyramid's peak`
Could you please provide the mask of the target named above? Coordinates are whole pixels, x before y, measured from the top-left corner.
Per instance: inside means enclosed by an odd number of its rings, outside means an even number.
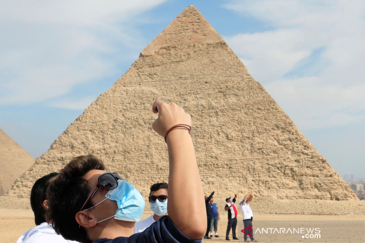
[[[130,19],[163,1],[2,1],[0,105],[59,97],[113,73],[120,46],[121,59],[141,46]]]

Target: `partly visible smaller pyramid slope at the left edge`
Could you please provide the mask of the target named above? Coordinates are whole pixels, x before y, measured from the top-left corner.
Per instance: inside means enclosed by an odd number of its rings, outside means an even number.
[[[34,158],[0,129],[0,195],[7,192],[32,164]]]

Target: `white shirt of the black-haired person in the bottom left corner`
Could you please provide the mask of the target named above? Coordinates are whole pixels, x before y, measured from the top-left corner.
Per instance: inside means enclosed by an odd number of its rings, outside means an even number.
[[[77,241],[65,240],[57,235],[52,226],[46,222],[37,225],[25,232],[16,243],[77,243]]]

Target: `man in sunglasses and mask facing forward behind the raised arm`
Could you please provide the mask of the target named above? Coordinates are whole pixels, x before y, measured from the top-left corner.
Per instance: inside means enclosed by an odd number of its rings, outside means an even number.
[[[143,219],[136,223],[134,226],[134,233],[144,231],[151,224],[156,222],[160,217],[168,215],[167,212],[167,195],[168,195],[168,184],[165,182],[155,183],[150,187],[150,196],[148,201],[150,203],[150,209],[153,215],[147,219]]]

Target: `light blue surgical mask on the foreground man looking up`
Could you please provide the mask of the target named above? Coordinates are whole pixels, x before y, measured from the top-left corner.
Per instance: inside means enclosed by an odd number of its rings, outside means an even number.
[[[143,209],[145,208],[145,200],[141,193],[127,181],[118,180],[118,186],[108,191],[105,197],[106,198],[100,203],[107,199],[114,200],[118,205],[118,209],[116,210],[115,215],[108,217],[107,219],[100,220],[97,223],[111,219],[112,217],[114,217],[114,219],[131,222],[137,222],[141,219]],[[100,203],[97,203],[94,207]],[[84,211],[91,208],[85,209]]]

